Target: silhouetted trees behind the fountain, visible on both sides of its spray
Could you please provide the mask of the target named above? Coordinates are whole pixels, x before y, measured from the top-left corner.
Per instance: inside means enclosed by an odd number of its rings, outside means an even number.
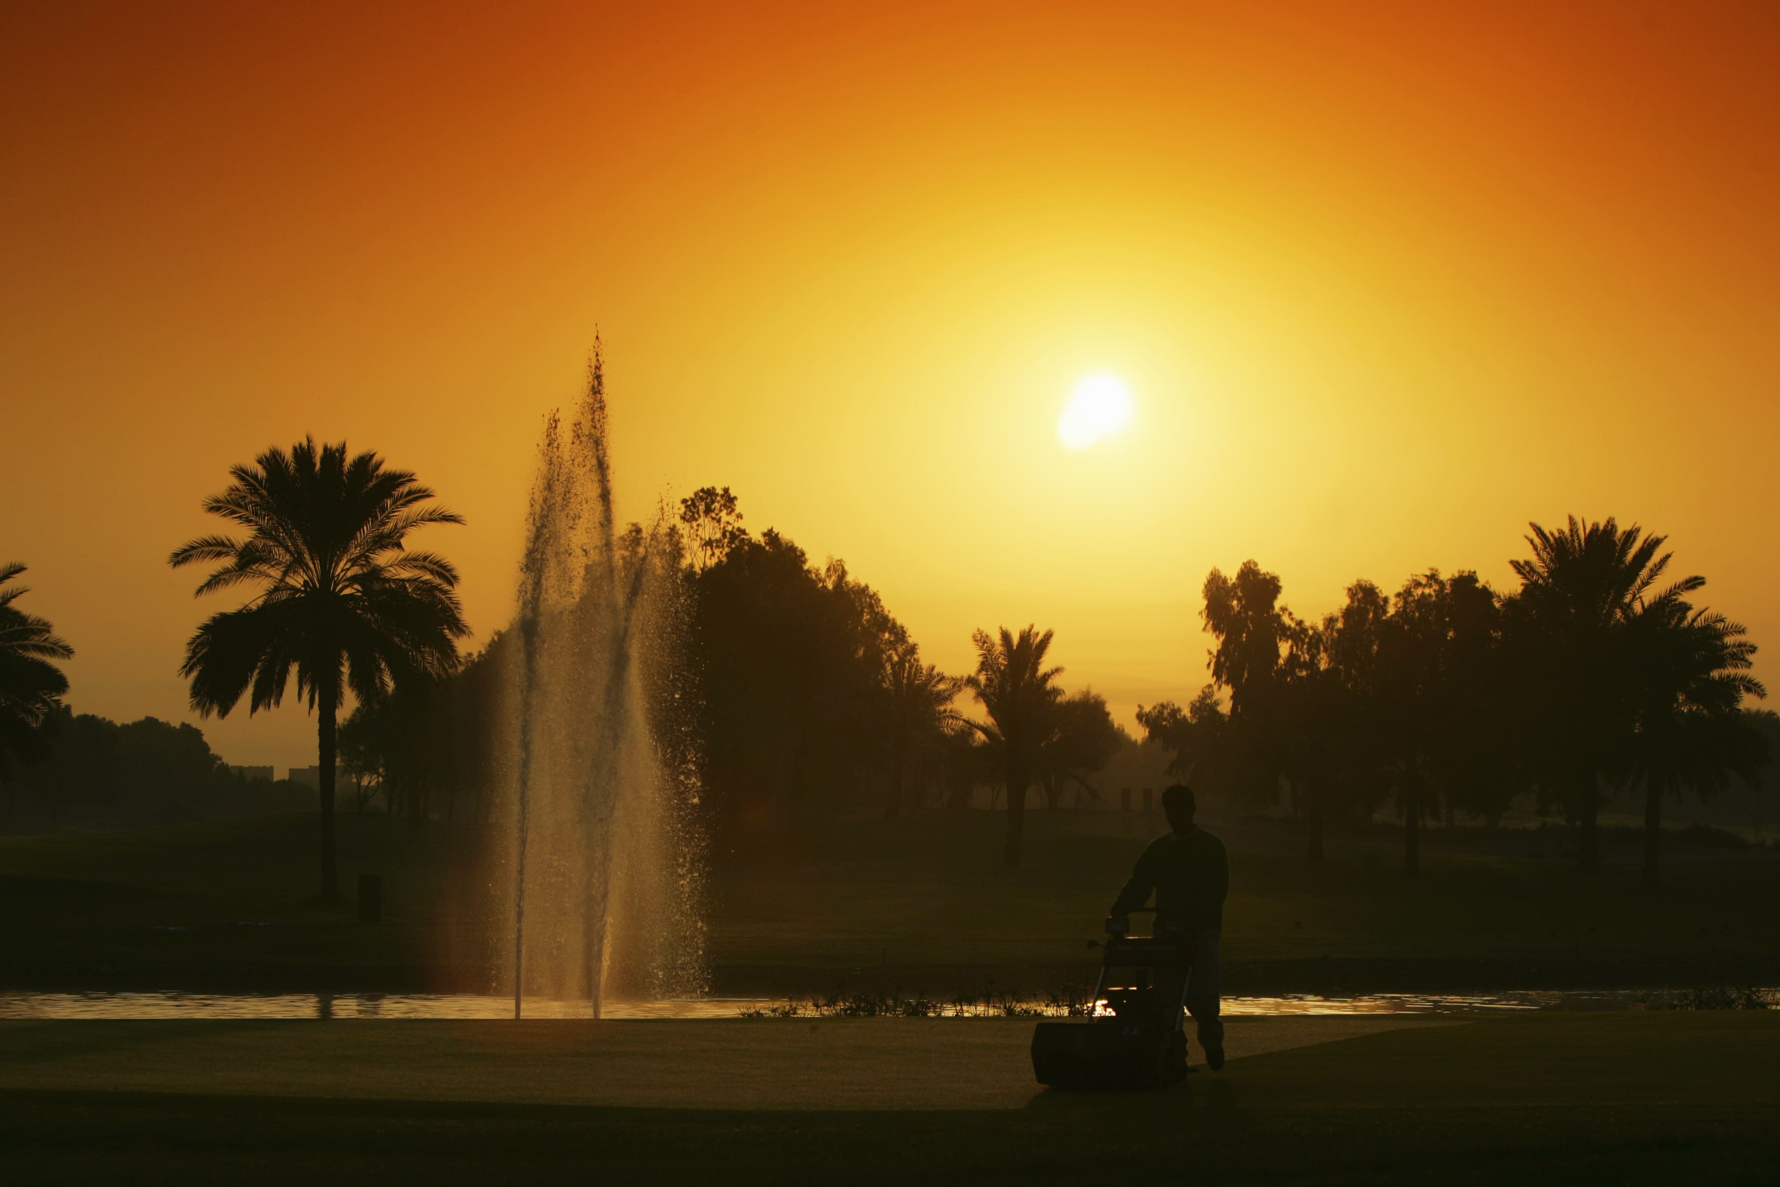
[[[1057,671],[1025,671],[1018,658],[1007,669],[993,650],[970,678],[924,662],[878,591],[840,561],[812,564],[776,530],[753,536],[728,488],[680,500],[655,537],[668,541],[685,635],[685,653],[668,660],[684,676],[680,696],[653,698],[657,737],[696,739],[701,804],[719,833],[796,828],[837,808],[961,808],[988,783],[1009,790],[1016,856],[1025,790],[1056,808],[1129,742],[1105,701],[1064,696]],[[625,539],[641,550],[644,530],[632,525]],[[1020,637],[1040,655],[1050,642],[1031,628]],[[497,634],[454,674],[363,701],[340,731],[356,787],[415,819],[479,817],[493,778],[486,723],[500,712],[511,646],[511,632]],[[988,698],[988,723],[956,707],[967,689]]]

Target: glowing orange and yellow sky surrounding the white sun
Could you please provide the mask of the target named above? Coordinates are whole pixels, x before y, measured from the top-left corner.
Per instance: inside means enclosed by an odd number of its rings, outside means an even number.
[[[304,432],[463,511],[498,626],[595,327],[632,516],[728,484],[929,658],[1038,621],[1121,715],[1205,682],[1214,564],[1319,614],[1570,511],[1780,637],[1775,5],[34,7],[0,559],[82,710],[189,717],[231,603],[166,555]],[[1136,422],[1068,454],[1093,370]]]

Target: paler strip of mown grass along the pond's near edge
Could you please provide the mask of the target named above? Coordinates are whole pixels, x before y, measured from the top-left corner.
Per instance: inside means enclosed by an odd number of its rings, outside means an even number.
[[[1031,1020],[0,1021],[0,1089],[651,1109],[1025,1109]],[[1230,1057],[1417,1014],[1230,1020]],[[1198,1057],[1198,1052],[1194,1052]]]

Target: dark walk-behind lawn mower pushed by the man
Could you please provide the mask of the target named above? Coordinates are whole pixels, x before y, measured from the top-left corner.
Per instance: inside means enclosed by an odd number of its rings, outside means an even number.
[[[1141,911],[1153,915],[1153,908]],[[1032,1073],[1040,1084],[1162,1087],[1185,1078],[1185,949],[1173,936],[1127,931],[1127,920],[1105,922],[1089,1016],[1047,1020],[1032,1032]]]

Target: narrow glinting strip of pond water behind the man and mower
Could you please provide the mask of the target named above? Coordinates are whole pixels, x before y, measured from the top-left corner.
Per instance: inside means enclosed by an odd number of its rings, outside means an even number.
[[[1476,1014],[1538,1009],[1645,1009],[1645,989],[1477,995],[1371,993],[1360,997],[1226,997],[1228,1016],[1266,1014]],[[904,1005],[908,1005],[904,1009]],[[1057,1016],[1056,1000],[979,1002],[691,998],[605,1002],[605,1018],[812,1018],[929,1014],[940,1018]],[[473,993],[27,993],[0,991],[0,1018],[511,1018],[513,998]],[[527,1018],[589,1018],[587,1002],[527,998]]]

